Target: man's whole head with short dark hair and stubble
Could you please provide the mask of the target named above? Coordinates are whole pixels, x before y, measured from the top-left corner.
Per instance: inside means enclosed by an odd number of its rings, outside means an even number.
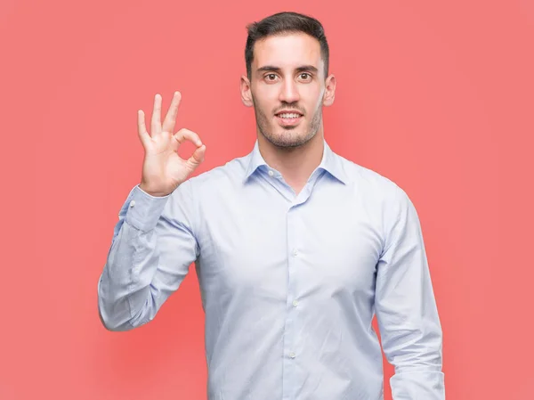
[[[322,135],[322,106],[334,102],[336,78],[328,76],[328,42],[320,22],[280,12],[247,29],[241,97],[254,106],[259,133],[278,147]]]

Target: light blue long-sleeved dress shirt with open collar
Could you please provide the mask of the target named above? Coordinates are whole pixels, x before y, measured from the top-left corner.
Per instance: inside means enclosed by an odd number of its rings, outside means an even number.
[[[416,209],[324,151],[295,195],[258,151],[166,197],[135,186],[98,283],[111,331],[150,322],[195,264],[209,400],[442,400],[441,324]],[[187,329],[187,327],[184,327]]]

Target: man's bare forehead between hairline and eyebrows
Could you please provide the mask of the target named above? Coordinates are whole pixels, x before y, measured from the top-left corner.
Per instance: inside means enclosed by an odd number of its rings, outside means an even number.
[[[289,33],[265,37],[254,47],[253,69],[271,65],[286,69],[310,64],[322,69],[320,43],[304,33]]]

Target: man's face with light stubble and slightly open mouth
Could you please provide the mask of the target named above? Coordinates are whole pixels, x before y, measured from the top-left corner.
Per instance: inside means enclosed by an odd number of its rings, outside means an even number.
[[[314,37],[287,34],[255,43],[246,96],[254,105],[258,130],[269,142],[300,146],[322,128],[322,105],[331,103],[324,102],[325,90],[333,78],[325,82],[324,74],[320,43]]]

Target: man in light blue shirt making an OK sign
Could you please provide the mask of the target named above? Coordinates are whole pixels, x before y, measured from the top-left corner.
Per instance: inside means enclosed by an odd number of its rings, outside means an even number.
[[[443,399],[441,325],[416,209],[397,184],[331,151],[334,102],[318,20],[281,12],[248,27],[241,97],[257,141],[190,177],[206,146],[174,132],[174,94],[151,132],[142,181],[119,213],[98,285],[102,323],[149,322],[195,263],[210,400],[379,400],[380,344],[395,400]],[[197,146],[190,159],[180,143]],[[188,179],[189,177],[189,179]]]

